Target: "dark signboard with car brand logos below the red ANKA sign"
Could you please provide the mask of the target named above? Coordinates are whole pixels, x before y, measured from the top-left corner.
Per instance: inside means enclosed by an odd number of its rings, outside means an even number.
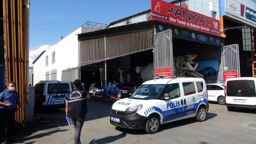
[[[222,39],[217,36],[209,36],[207,34],[194,32],[184,28],[176,28],[176,27],[165,25],[165,24],[156,23],[157,32],[162,32],[168,29],[172,30],[173,38],[181,38],[184,40],[190,40],[190,41],[200,42],[204,44],[211,44],[214,46],[221,46],[222,44]]]

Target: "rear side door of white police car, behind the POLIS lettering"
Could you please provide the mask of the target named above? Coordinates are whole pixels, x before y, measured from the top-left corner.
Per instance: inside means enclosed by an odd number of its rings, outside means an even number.
[[[196,115],[196,108],[198,106],[198,93],[196,93],[196,82],[183,82],[182,88],[184,92],[184,96],[182,98],[182,103],[184,105],[184,118],[193,117]]]

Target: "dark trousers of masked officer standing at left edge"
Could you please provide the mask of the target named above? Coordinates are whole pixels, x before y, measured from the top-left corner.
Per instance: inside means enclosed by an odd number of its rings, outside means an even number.
[[[6,126],[7,126],[6,139],[12,138],[14,114],[15,114],[14,110],[0,110],[0,140],[4,138]]]

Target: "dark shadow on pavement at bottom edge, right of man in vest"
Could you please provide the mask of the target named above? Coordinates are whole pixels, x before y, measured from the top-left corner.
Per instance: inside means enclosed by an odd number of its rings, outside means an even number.
[[[122,134],[118,134],[116,136],[108,136],[108,137],[105,137],[105,138],[100,138],[100,139],[93,139],[90,141],[89,144],[108,144],[108,143],[111,143],[111,142],[114,142],[120,138],[124,138],[126,136],[126,133],[122,133]]]

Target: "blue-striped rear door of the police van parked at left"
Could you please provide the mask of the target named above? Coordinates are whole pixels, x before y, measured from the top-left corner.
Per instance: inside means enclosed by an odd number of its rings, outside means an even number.
[[[69,83],[49,83],[47,86],[46,105],[65,104],[66,96],[69,92]]]

